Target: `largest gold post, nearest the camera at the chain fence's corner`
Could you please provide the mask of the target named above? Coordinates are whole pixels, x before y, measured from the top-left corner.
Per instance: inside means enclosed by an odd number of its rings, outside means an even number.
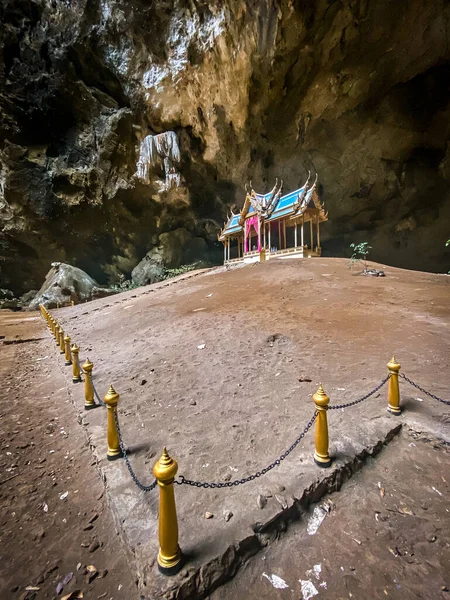
[[[164,448],[161,458],[153,467],[159,486],[159,552],[158,569],[164,575],[175,575],[183,566],[178,545],[178,520],[173,481],[178,471],[177,462]]]

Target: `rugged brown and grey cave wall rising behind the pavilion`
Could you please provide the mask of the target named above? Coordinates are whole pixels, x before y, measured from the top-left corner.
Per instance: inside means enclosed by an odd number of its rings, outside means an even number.
[[[0,287],[52,261],[128,276],[180,227],[215,247],[250,179],[319,173],[325,254],[446,271],[444,0],[2,0]],[[177,134],[179,186],[136,177]]]

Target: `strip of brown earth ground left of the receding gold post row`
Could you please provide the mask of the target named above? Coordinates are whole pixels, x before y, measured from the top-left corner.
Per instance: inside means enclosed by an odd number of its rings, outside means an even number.
[[[137,598],[42,320],[2,311],[0,333],[0,598],[61,598],[73,590],[86,599]],[[91,565],[98,575],[88,583]]]

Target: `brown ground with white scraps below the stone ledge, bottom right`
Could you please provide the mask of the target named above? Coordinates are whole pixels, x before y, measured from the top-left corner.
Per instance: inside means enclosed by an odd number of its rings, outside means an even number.
[[[404,431],[211,600],[448,600],[449,493],[449,447]]]

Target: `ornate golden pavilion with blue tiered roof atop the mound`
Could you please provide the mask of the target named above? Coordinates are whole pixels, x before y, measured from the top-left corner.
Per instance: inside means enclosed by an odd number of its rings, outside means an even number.
[[[242,210],[232,212],[218,235],[224,264],[320,256],[320,224],[328,215],[317,193],[317,176],[312,184],[309,179],[284,196],[278,180],[267,194],[255,192],[251,183],[250,191],[246,186]]]

